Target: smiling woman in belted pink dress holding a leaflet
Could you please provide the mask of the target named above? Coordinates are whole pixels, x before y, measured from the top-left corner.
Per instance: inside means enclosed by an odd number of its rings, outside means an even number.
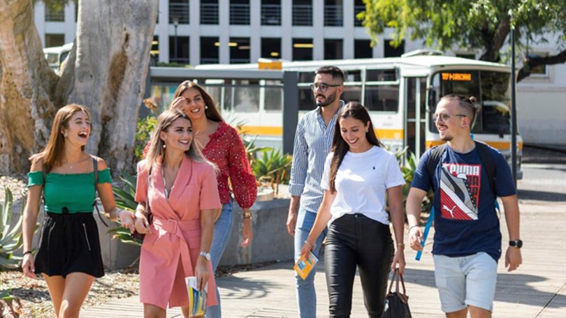
[[[220,209],[215,166],[193,142],[190,119],[178,110],[159,115],[151,146],[138,162],[136,230],[145,233],[140,253],[140,301],[144,317],[165,317],[181,307],[189,317],[185,277],[207,288],[207,306],[217,304],[210,244]],[[145,218],[145,204],[152,222]]]

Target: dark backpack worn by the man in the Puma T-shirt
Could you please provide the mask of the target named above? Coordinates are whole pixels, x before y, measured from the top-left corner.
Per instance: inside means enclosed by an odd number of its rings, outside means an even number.
[[[479,159],[481,160],[481,164],[486,169],[491,192],[495,194],[495,160],[493,160],[493,156],[491,155],[489,146],[487,144],[485,144],[484,142],[478,142],[477,140],[474,140],[474,142],[476,143],[476,149],[479,152]],[[434,189],[433,179],[435,176],[436,167],[440,163],[440,158],[442,157],[442,153],[444,153],[445,149],[446,144],[441,144],[439,146],[434,146],[433,149],[430,150],[430,156],[428,157],[428,161],[426,162],[430,188]]]

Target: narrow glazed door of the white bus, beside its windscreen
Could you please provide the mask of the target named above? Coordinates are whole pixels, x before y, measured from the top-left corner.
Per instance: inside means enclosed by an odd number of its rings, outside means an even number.
[[[421,158],[425,149],[426,77],[405,77],[405,140],[409,151]]]

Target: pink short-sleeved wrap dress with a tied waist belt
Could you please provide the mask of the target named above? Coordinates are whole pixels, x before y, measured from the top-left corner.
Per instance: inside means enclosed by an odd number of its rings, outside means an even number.
[[[140,252],[140,301],[161,308],[186,307],[184,278],[194,276],[201,252],[201,210],[220,209],[215,171],[208,162],[186,157],[167,199],[161,167],[154,165],[147,191],[145,160],[138,162],[136,202],[150,199],[153,222]],[[208,251],[205,251],[208,252]],[[215,275],[208,262],[207,306],[216,305]]]

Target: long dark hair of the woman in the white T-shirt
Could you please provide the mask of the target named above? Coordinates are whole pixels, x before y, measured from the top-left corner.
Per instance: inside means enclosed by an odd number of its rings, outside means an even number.
[[[342,164],[342,160],[344,160],[344,156],[349,151],[350,146],[348,146],[347,142],[344,142],[342,135],[340,134],[340,119],[345,118],[354,118],[358,119],[363,123],[365,126],[366,123],[369,123],[370,126],[368,127],[368,132],[365,132],[365,138],[368,139],[368,142],[374,146],[382,147],[383,144],[379,141],[379,138],[375,135],[375,131],[373,130],[372,120],[370,118],[370,114],[368,113],[368,109],[365,109],[361,103],[358,102],[350,102],[344,105],[338,114],[338,118],[336,118],[336,124],[334,126],[334,137],[332,140],[332,149],[331,151],[334,152],[331,161],[331,173],[330,173],[330,187],[331,192],[336,192],[335,187],[335,180],[336,174],[338,173],[338,168]]]

